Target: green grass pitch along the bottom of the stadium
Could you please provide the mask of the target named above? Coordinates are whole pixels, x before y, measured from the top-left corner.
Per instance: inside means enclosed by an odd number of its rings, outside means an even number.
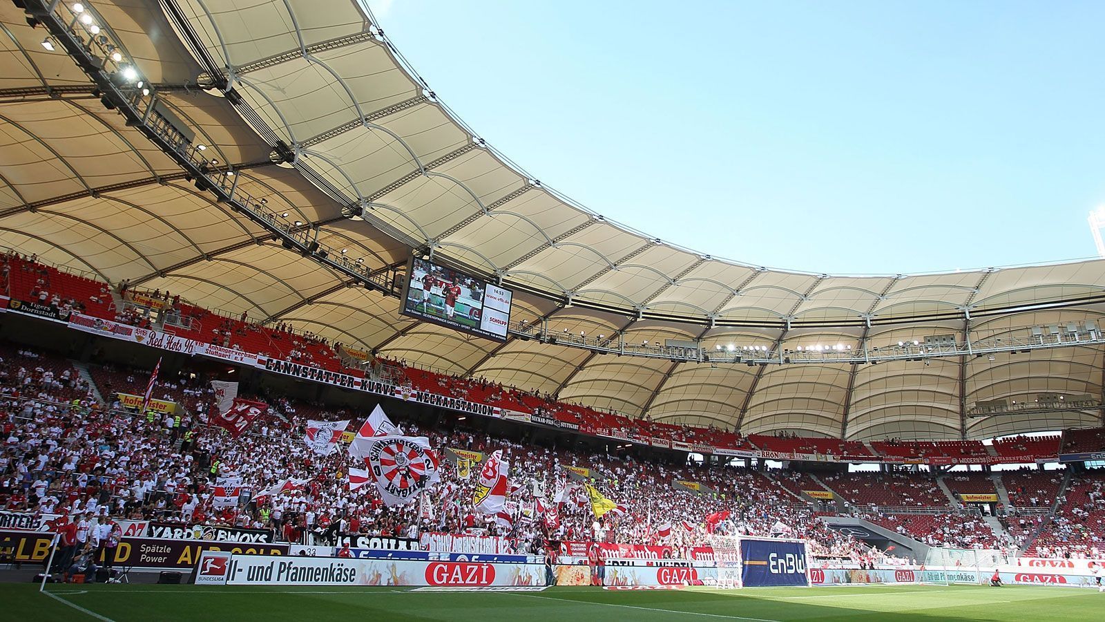
[[[678,591],[554,588],[427,592],[411,588],[0,584],[6,620],[1103,620],[1096,590],[1033,587],[859,587]]]

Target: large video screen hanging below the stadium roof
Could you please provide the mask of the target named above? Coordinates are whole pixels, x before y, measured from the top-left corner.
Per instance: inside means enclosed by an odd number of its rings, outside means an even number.
[[[513,293],[494,283],[413,258],[402,313],[496,341],[506,341]]]

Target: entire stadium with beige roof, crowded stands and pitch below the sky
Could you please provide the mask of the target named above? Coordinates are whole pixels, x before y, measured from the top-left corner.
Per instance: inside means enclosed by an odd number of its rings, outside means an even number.
[[[13,619],[1101,609],[1105,260],[683,248],[514,164],[356,0],[0,22]]]

